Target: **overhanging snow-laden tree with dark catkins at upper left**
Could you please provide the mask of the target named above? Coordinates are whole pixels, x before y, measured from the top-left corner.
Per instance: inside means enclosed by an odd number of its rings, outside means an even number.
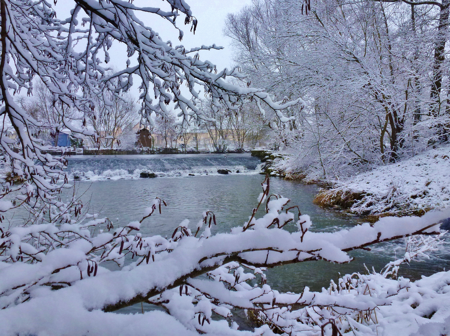
[[[165,1],[166,9],[139,7],[121,0],[76,0],[73,4],[69,18],[58,18],[48,1],[0,2],[0,115],[3,129],[11,125],[15,131],[15,137],[1,134],[1,156],[10,164],[14,176],[24,181],[16,186],[4,182],[1,196],[19,192],[19,203],[35,206],[36,202],[50,200],[57,204],[59,189],[67,183],[63,170],[66,160],[46,154],[50,148],[40,138],[41,130],[58,132],[67,127],[76,136],[92,136],[97,142],[99,134],[89,129],[87,121],[99,107],[98,102],[105,109],[112,109],[113,99],[120,99],[133,82],[141,91],[141,117],[151,126],[152,113],[164,117],[170,102],[180,111],[183,127],[189,125],[191,118],[203,119],[193,100],[200,88],[211,97],[215,109],[222,104],[238,109],[242,100],[252,98],[257,103],[265,101],[282,120],[288,118],[281,110],[302,103],[300,99],[275,103],[260,89],[230,85],[224,78],[242,77],[237,69],[217,72],[213,64],[198,57],[198,50],[217,49],[216,45],[192,50],[172,45],[136,16],[144,14],[151,23],[155,16],[167,20],[178,30],[181,40],[178,16],[183,15],[184,23],[193,30],[197,25],[183,0]],[[132,64],[129,59],[117,71],[109,68],[114,56],[109,49],[113,44],[126,45],[128,57],[136,62]],[[16,103],[14,97],[19,92],[33,94],[35,77],[53,97],[52,109],[59,115],[59,124],[36,120]],[[182,85],[188,90],[182,91]],[[66,112],[69,108],[80,115],[80,125],[71,122]],[[13,147],[19,148],[19,153]],[[5,205],[2,210],[11,207],[12,204]]]

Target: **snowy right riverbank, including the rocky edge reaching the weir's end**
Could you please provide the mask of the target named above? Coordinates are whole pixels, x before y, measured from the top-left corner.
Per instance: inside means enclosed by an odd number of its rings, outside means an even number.
[[[397,163],[374,168],[342,181],[316,181],[306,174],[283,169],[284,154],[270,152],[262,160],[265,173],[316,183],[324,189],[315,203],[350,213],[373,216],[423,215],[450,207],[450,145],[428,150]]]

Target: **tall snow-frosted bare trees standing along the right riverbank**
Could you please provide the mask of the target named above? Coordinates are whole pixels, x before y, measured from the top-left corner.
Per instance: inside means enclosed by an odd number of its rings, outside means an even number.
[[[446,15],[447,1],[255,0],[225,33],[254,85],[302,93],[274,134],[333,179],[448,140]]]

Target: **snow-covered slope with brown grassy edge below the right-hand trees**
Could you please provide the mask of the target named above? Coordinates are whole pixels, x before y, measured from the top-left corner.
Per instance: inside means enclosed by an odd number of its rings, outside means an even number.
[[[423,213],[450,206],[450,145],[339,181],[324,203],[356,198],[354,213]],[[323,197],[323,195],[322,195]]]

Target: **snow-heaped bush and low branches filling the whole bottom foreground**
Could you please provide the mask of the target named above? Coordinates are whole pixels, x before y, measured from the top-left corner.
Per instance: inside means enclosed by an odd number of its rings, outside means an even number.
[[[437,222],[448,212],[382,218],[375,224],[314,232],[308,215],[297,206],[289,207],[287,198],[270,195],[268,178],[262,187],[249,220],[230,233],[211,235],[216,218],[208,211],[194,226],[189,227],[188,220],[181,222],[171,237],[144,237],[139,233],[141,222],[166,205],[159,198],[144,210],[140,222],[124,226],[82,212],[81,203],[66,204],[63,213],[54,207],[42,216],[37,214],[35,224],[3,226],[0,335],[120,335],[125,331],[139,335],[150,330],[150,335],[284,332],[299,336],[320,335],[321,328],[327,335],[336,328],[342,334],[372,335],[395,327],[402,314],[419,321],[410,331],[429,321],[424,316],[432,313],[430,309],[446,318],[444,297],[450,282],[445,279],[450,275],[439,273],[410,282],[396,279],[396,272],[401,263],[441,244]],[[430,234],[437,236],[415,236]],[[348,251],[406,236],[413,237],[405,256],[381,273],[344,276],[322,292],[305,288],[299,294],[280,293],[266,284],[266,268],[312,260],[347,263],[352,260]],[[108,270],[102,265],[106,261],[120,269]],[[199,277],[202,274],[209,280]],[[259,284],[255,277],[260,278]],[[445,288],[437,289],[439,284]],[[423,291],[422,297],[415,294]],[[432,305],[435,301],[440,304]],[[167,313],[107,313],[139,302],[161,305]],[[415,305],[412,313],[411,305]],[[396,306],[403,310],[397,311]],[[231,311],[236,308],[247,309],[260,327],[254,332],[236,330]],[[327,324],[330,319],[333,322]]]

